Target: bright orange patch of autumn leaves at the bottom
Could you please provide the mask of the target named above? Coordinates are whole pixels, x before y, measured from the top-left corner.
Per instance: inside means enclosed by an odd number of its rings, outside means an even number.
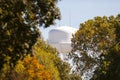
[[[44,66],[39,63],[36,56],[26,57],[23,60],[23,74],[28,80],[51,80],[49,70],[45,70]],[[18,66],[19,67],[19,66]],[[19,71],[18,71],[19,72]]]

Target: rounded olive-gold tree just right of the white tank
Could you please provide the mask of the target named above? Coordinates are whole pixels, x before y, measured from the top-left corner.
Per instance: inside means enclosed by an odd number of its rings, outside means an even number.
[[[119,16],[119,15],[118,15]],[[70,57],[76,64],[77,72],[83,74],[94,65],[100,65],[102,54],[116,45],[118,37],[116,23],[119,21],[114,16],[95,17],[82,23],[79,30],[72,38],[72,51]]]

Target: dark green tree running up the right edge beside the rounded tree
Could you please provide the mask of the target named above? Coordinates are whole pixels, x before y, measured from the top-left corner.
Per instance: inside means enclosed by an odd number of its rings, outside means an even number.
[[[116,44],[100,55],[100,65],[91,80],[119,80],[120,79],[120,15],[114,20]]]

